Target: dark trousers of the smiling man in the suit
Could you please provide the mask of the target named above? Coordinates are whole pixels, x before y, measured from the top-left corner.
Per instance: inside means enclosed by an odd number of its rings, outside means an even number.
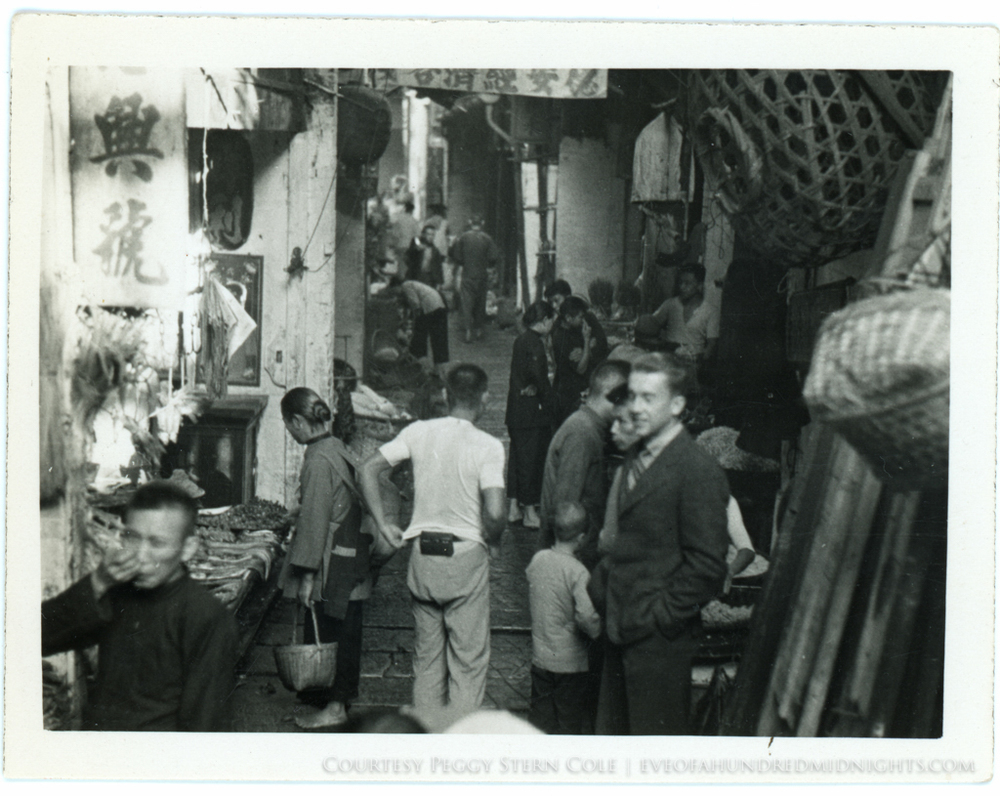
[[[691,630],[669,640],[654,633],[623,647],[605,645],[597,734],[689,734],[697,647]]]

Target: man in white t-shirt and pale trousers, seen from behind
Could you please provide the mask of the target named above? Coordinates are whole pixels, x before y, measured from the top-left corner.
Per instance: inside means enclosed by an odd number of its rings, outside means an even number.
[[[404,428],[361,467],[361,487],[379,533],[397,547],[416,540],[406,585],[416,639],[413,704],[456,716],[482,704],[490,660],[489,549],[505,525],[504,451],[476,428],[487,378],[476,365],[448,374],[447,417]],[[405,533],[387,522],[379,478],[413,462],[413,518]]]

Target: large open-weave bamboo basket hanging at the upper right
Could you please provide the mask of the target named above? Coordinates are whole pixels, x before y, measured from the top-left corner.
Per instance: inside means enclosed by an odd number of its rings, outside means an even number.
[[[940,73],[882,72],[892,113],[864,73],[706,70],[697,74],[695,150],[733,225],[758,254],[817,266],[871,246],[907,127],[927,134]]]

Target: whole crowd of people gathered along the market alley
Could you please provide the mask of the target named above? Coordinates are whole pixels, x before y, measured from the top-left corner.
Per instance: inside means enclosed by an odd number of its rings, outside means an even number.
[[[396,286],[422,319],[415,347],[425,352],[429,340],[443,366],[436,232],[420,231],[413,261],[421,265]],[[449,249],[468,341],[481,331],[477,308],[495,250],[478,222]],[[636,342],[613,351],[587,302],[563,280],[550,285],[524,311],[513,342],[506,461],[501,441],[476,426],[489,385],[475,364],[447,370],[444,416],[406,426],[365,461],[338,438],[336,412],[317,393],[298,387],[284,396],[286,430],[305,456],[280,585],[315,611],[318,640],[339,644],[333,685],[299,694],[315,707],[296,717],[300,727],[345,726],[358,695],[373,589],[367,516],[383,547],[412,543],[414,715],[447,726],[481,706],[490,558],[508,524],[520,523],[538,538],[527,568],[531,723],[546,733],[688,731],[700,608],[753,558],[725,474],[681,420],[713,343],[703,283],[703,270],[685,270],[678,298],[641,318]],[[405,529],[382,488],[404,461],[414,477]],[[123,549],[43,604],[43,654],[99,644],[86,728],[230,726],[233,620],[184,568],[196,549],[196,510],[169,484],[140,488]],[[305,635],[315,640],[309,622]]]

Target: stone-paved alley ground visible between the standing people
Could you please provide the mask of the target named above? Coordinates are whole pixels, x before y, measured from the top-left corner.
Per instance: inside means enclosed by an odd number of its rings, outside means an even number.
[[[452,315],[452,363],[475,362],[489,374],[491,402],[480,426],[508,445],[504,426],[511,346],[515,331],[487,327],[483,340],[461,341],[457,314]],[[524,570],[534,551],[536,534],[520,525],[508,528],[501,554],[491,563],[490,671],[487,707],[525,713],[531,691],[531,636],[528,587]],[[375,594],[365,606],[361,693],[355,709],[402,706],[412,693],[413,617],[406,589],[408,550],[382,571]],[[294,606],[279,600],[267,614],[255,644],[247,653],[237,690],[236,730],[292,732],[295,695],[278,680],[273,646],[291,641]]]

